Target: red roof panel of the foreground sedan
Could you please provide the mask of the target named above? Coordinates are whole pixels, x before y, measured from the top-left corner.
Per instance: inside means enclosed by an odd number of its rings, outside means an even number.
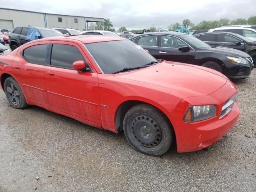
[[[58,40],[68,40],[68,41],[80,41],[82,43],[95,43],[95,42],[106,42],[106,41],[117,41],[117,40],[128,40],[119,36],[108,36],[108,35],[67,35],[67,36],[56,36],[42,38],[36,41],[58,41]],[[34,42],[34,41],[33,41]]]

